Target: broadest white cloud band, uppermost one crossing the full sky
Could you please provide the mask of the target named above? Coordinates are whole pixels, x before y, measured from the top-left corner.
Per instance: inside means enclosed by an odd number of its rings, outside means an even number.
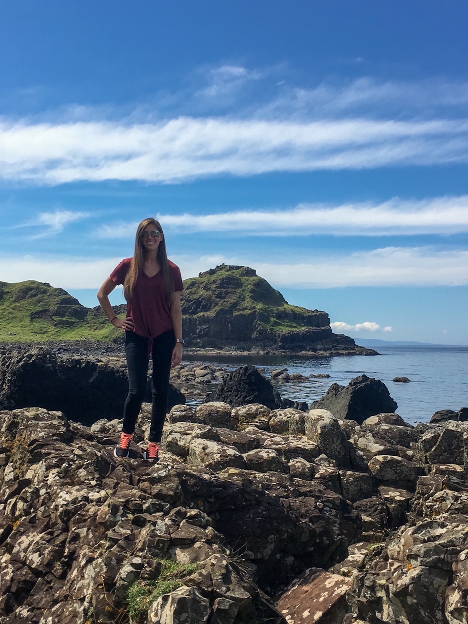
[[[468,120],[0,124],[0,177],[180,182],[212,175],[468,162]]]

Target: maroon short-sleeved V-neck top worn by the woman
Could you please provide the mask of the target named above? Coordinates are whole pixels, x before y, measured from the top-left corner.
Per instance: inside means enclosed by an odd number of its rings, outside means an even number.
[[[125,258],[110,273],[110,279],[116,284],[123,284],[129,272],[132,258]],[[177,265],[169,260],[174,278],[174,290],[183,290],[182,276]],[[135,324],[135,334],[146,338],[156,338],[172,329],[170,306],[166,301],[162,271],[152,277],[140,273],[135,283],[132,301],[127,302],[127,316]]]

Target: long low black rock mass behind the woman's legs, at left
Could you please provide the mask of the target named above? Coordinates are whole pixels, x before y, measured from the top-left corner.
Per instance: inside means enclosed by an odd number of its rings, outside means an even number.
[[[0,409],[44,407],[89,426],[121,418],[128,391],[125,371],[108,364],[60,358],[45,348],[0,353]],[[183,402],[173,388],[168,409]]]

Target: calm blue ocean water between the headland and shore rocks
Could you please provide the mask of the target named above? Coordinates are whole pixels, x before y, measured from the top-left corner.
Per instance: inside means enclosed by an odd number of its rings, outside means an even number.
[[[328,373],[329,379],[278,383],[281,397],[310,404],[325,394],[329,386],[346,386],[351,379],[366,374],[380,379],[397,402],[397,413],[411,424],[429,422],[439,409],[468,407],[468,346],[378,346],[379,356],[311,358],[308,356],[212,356],[207,364],[236,369],[253,364],[266,378],[277,368],[289,373]],[[198,358],[190,358],[192,360]],[[410,383],[396,383],[394,377],[407,377]]]

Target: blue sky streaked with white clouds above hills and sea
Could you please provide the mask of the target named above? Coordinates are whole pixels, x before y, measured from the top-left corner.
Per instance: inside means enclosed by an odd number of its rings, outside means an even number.
[[[184,278],[249,265],[358,342],[468,344],[467,18],[2,2],[0,280],[94,306],[155,216]]]

